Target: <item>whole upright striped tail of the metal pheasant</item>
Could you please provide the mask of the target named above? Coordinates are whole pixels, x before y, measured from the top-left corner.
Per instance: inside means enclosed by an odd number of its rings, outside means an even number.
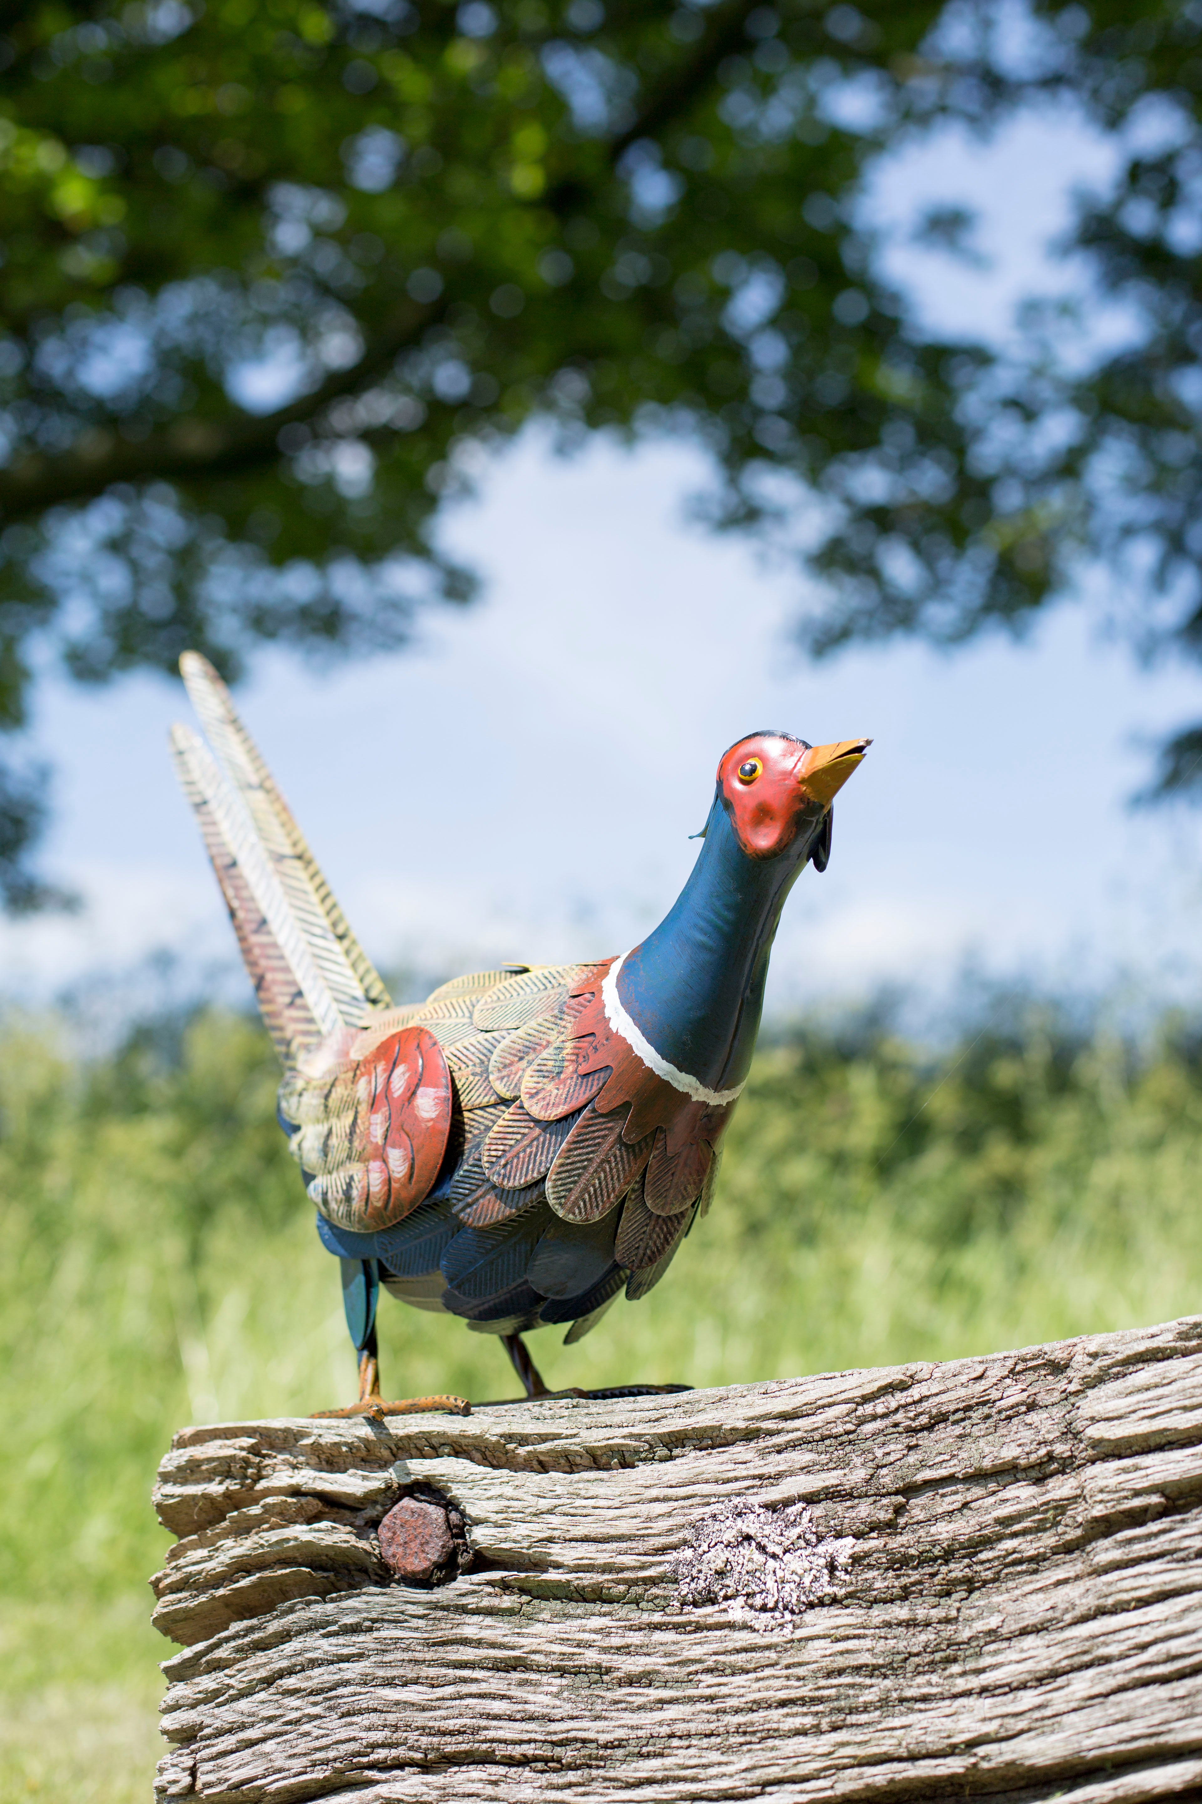
[[[189,727],[173,727],[175,767],[196,810],[263,1021],[283,1063],[296,1066],[319,1039],[357,1028],[371,1007],[387,1007],[387,990],[225,684],[196,651],[184,653],[180,671],[209,743]]]

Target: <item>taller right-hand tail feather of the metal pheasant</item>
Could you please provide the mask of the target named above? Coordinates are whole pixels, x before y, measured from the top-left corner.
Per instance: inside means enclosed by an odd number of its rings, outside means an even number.
[[[238,718],[229,689],[198,651],[184,653],[180,673],[209,745],[245,803],[341,1019],[357,1025],[368,1003],[389,1003],[380,974],[351,933],[258,745]]]

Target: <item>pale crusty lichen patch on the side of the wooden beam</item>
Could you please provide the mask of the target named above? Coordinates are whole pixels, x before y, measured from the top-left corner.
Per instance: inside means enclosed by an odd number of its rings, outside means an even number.
[[[851,1564],[851,1535],[820,1535],[813,1510],[721,1503],[669,1562],[685,1607],[724,1604],[748,1629],[789,1631],[813,1604],[834,1598]]]

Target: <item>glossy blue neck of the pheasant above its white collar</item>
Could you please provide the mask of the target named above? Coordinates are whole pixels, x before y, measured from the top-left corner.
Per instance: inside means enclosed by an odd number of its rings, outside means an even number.
[[[750,859],[714,799],[705,841],[672,911],[618,972],[618,996],[661,1059],[708,1090],[748,1075],[784,900],[818,821],[775,859]]]

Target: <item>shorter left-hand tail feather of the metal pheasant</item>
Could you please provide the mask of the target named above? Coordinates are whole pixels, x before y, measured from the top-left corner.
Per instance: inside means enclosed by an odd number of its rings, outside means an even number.
[[[241,796],[225,781],[204,740],[187,727],[173,727],[171,750],[232,915],[263,1019],[285,1063],[292,1064],[315,1039],[353,1025],[357,1016],[342,1014]],[[360,992],[359,1014],[362,1007]]]

